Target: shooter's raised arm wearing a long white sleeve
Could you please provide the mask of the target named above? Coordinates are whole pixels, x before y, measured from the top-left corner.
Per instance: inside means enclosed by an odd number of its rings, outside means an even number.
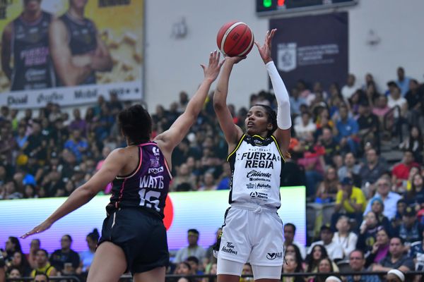
[[[256,46],[258,47],[259,54],[261,55],[261,58],[265,63],[266,71],[268,71],[269,78],[271,78],[273,92],[276,95],[278,105],[278,128],[273,133],[273,135],[276,136],[281,152],[285,153],[288,149],[288,145],[290,144],[290,128],[292,124],[290,117],[290,99],[288,97],[288,92],[271,57],[271,42],[276,31],[276,29],[273,29],[271,30],[271,32],[266,32],[264,45],[261,46],[258,42],[254,42],[254,44],[256,44]]]

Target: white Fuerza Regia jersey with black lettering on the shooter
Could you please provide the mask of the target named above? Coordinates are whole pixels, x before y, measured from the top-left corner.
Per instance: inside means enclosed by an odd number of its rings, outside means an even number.
[[[227,161],[231,167],[230,204],[281,206],[280,176],[285,160],[275,137],[243,135]]]

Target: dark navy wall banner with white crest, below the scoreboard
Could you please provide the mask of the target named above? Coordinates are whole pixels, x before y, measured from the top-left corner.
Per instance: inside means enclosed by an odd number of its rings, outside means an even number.
[[[270,20],[277,28],[272,57],[288,90],[298,80],[345,85],[348,76],[348,13]]]

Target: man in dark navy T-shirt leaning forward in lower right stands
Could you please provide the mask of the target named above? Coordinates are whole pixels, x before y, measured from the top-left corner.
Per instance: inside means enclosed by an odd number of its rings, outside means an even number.
[[[389,256],[384,257],[379,264],[374,264],[372,271],[399,269],[406,272],[415,269],[411,257],[404,255],[404,240],[399,237],[393,237],[390,239],[389,244]]]

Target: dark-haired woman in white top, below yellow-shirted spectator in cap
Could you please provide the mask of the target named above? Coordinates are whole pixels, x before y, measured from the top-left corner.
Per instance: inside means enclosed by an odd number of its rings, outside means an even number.
[[[334,233],[333,241],[343,248],[343,259],[355,250],[358,235],[351,231],[351,223],[347,216],[340,216],[336,223],[337,232]]]

